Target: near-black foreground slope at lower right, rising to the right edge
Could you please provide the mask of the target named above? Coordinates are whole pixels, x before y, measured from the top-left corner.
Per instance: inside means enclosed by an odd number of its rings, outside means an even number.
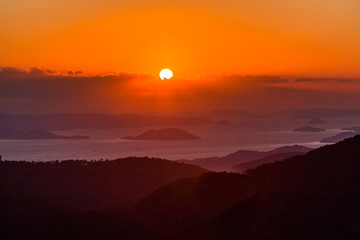
[[[253,203],[246,203],[248,207],[240,203],[227,218],[215,221],[212,231],[220,239],[356,239],[352,237],[359,235],[360,136],[248,173],[263,183],[263,191]],[[245,220],[236,216],[255,220],[244,229],[239,223]]]

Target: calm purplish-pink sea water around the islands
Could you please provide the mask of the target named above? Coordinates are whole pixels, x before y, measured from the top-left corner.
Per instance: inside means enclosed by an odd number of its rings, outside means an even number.
[[[359,119],[329,120],[320,128],[326,132],[298,133],[292,129],[306,125],[304,120],[239,120],[232,125],[179,127],[200,136],[193,141],[130,141],[149,128],[53,131],[60,135],[87,135],[88,140],[0,140],[0,154],[6,160],[48,161],[64,159],[115,159],[152,156],[171,160],[223,156],[240,149],[270,150],[283,145],[319,147],[319,141],[340,128],[360,125]]]

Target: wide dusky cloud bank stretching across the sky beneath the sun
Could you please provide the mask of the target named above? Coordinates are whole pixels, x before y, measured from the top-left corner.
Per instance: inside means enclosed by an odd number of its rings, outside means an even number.
[[[360,107],[355,82],[341,78],[288,81],[278,76],[203,74],[195,79],[161,81],[127,72],[101,76],[71,72],[61,75],[42,68],[0,68],[0,113]],[[342,88],[337,88],[340,80]],[[314,84],[305,84],[311,82],[332,82],[335,87],[311,88]]]

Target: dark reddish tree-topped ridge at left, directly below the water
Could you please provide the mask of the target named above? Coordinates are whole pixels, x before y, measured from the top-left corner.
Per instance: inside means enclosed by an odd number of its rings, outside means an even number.
[[[192,165],[157,158],[89,162],[0,162],[4,191],[59,206],[107,209],[133,204],[180,177],[204,173]]]

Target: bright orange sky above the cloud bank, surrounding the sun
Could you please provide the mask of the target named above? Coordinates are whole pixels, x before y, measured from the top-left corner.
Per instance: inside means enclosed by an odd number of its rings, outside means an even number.
[[[0,66],[359,77],[359,11],[358,0],[2,0]]]

